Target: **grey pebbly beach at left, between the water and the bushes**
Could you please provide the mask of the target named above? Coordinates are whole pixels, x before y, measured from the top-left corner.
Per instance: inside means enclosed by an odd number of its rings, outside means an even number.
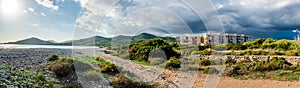
[[[0,88],[39,87],[44,83],[37,80],[38,73],[51,82],[60,83],[62,81],[47,69],[51,63],[47,58],[53,54],[74,57],[72,52],[72,49],[56,48],[0,49]]]

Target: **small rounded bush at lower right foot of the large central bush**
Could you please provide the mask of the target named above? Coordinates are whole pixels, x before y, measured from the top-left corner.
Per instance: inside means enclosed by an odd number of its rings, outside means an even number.
[[[166,62],[166,68],[180,68],[181,61],[178,58],[171,57]]]

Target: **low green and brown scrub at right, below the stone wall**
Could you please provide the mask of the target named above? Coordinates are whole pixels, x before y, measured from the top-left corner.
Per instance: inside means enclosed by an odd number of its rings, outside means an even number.
[[[227,68],[226,76],[238,79],[273,79],[283,81],[299,80],[299,65],[292,65],[284,58],[273,57],[270,60],[258,61],[239,61],[233,64],[231,61],[225,63]]]

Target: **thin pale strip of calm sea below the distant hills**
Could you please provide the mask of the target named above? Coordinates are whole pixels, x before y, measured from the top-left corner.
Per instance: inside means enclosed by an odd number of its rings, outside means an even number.
[[[95,49],[96,46],[60,46],[60,45],[18,45],[18,44],[0,44],[0,48],[57,48],[57,49]]]

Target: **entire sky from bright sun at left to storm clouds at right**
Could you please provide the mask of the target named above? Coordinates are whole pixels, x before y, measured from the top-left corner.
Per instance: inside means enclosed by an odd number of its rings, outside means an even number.
[[[0,0],[0,42],[241,33],[293,39],[300,0]]]

